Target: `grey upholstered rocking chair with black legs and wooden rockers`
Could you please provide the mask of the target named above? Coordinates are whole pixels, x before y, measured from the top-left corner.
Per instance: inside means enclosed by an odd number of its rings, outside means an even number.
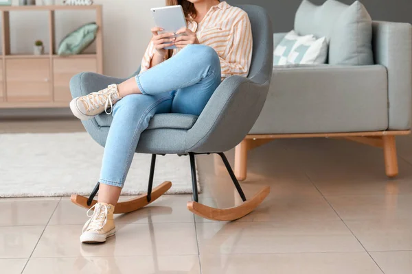
[[[118,203],[115,213],[132,212],[147,206],[172,186],[171,182],[164,182],[152,190],[156,156],[165,154],[190,156],[194,199],[187,203],[187,208],[194,214],[211,220],[233,221],[252,212],[267,197],[269,187],[247,200],[222,152],[238,145],[253,127],[266,100],[272,75],[271,20],[264,8],[257,5],[241,5],[240,8],[249,14],[253,32],[253,57],[249,77],[231,76],[225,79],[198,117],[171,113],[157,114],[152,118],[148,129],[141,134],[136,149],[137,153],[152,154],[148,192],[130,201]],[[84,96],[124,80],[96,73],[80,73],[71,79],[71,95]],[[102,114],[82,123],[91,137],[104,147],[111,121],[112,116]],[[222,158],[233,184],[244,201],[242,205],[220,210],[198,203],[195,155],[209,153],[217,153]],[[95,186],[89,199],[72,195],[71,201],[78,206],[90,208],[96,203],[93,198],[98,190],[99,184]]]

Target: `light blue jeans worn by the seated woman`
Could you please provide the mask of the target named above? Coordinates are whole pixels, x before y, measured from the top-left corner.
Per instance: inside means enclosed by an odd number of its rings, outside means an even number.
[[[211,47],[188,45],[169,60],[136,76],[143,94],[113,106],[99,182],[123,187],[141,132],[159,113],[201,114],[220,84],[220,61]]]

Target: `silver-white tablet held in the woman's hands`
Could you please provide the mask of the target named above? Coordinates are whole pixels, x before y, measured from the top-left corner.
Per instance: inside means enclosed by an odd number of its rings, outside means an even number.
[[[169,5],[167,7],[152,8],[153,19],[156,27],[164,29],[163,32],[177,32],[182,27],[187,27],[185,13],[181,5]],[[176,49],[175,46],[165,47],[165,49]]]

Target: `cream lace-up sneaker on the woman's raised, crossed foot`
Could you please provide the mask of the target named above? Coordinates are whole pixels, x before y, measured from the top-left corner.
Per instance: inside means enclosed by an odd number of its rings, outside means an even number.
[[[113,84],[98,92],[91,92],[89,95],[77,97],[70,102],[70,109],[80,120],[89,120],[94,116],[106,112],[111,114],[108,109],[122,99],[117,90],[117,85]]]

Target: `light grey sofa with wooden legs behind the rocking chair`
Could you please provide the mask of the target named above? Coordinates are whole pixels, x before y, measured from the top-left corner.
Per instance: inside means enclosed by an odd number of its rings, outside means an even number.
[[[324,5],[329,5],[326,8],[334,5],[335,10],[336,5],[342,9],[349,7],[334,0]],[[354,5],[358,9],[364,8],[358,2]],[[328,37],[329,64],[273,67],[271,88],[262,113],[249,136],[236,148],[236,176],[240,180],[246,179],[247,151],[270,140],[341,137],[382,147],[386,174],[395,177],[398,175],[395,136],[410,134],[411,129],[411,25],[371,22],[369,42],[373,63],[362,63],[363,57],[356,60],[356,55],[352,55],[350,57],[355,62],[361,63],[339,61],[332,64],[331,61],[336,60],[332,54],[347,51],[342,40],[336,43],[334,38],[334,22],[341,17],[334,19],[336,14],[306,0],[302,6],[297,12],[295,30],[299,34]],[[319,12],[323,12],[323,18],[319,18]],[[302,18],[305,13],[309,15]],[[325,18],[325,13],[329,18]],[[367,18],[369,14],[365,16]],[[354,27],[357,27],[354,32],[359,30],[359,25]],[[275,47],[284,35],[274,34]],[[348,37],[344,38],[352,39],[356,46],[359,38],[369,34],[347,32],[346,35]]]

